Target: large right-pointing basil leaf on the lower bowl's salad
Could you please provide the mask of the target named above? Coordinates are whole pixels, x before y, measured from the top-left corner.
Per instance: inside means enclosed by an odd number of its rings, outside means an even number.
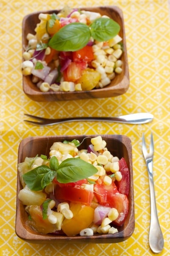
[[[57,180],[60,183],[76,182],[94,175],[96,167],[80,158],[68,158],[60,163]]]

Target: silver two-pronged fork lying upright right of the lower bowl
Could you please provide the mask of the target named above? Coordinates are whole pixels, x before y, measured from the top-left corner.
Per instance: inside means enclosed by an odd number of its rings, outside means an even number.
[[[147,152],[144,134],[142,134],[142,152],[147,165],[150,188],[150,230],[149,246],[154,253],[160,253],[164,247],[164,238],[159,225],[158,214],[156,209],[156,198],[153,183],[153,134],[150,135],[150,150]]]

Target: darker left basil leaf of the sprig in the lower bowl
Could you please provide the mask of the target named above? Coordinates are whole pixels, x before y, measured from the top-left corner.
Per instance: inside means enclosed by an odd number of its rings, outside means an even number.
[[[42,165],[34,168],[33,170],[26,172],[23,175],[23,180],[29,189],[34,191],[42,190],[41,180],[45,173],[51,171],[48,166]]]

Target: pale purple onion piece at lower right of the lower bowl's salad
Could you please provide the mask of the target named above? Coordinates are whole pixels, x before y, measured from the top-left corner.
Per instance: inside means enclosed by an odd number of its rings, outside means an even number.
[[[103,205],[98,205],[94,210],[94,224],[101,225],[102,220],[107,217],[111,207],[106,207]]]

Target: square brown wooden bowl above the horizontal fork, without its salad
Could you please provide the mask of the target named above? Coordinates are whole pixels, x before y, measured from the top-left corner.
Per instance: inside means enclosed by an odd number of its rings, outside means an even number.
[[[115,97],[125,93],[129,87],[129,71],[127,63],[127,48],[125,40],[125,26],[123,20],[122,10],[116,6],[102,6],[102,7],[89,7],[89,8],[80,8],[82,10],[87,10],[91,12],[99,12],[101,15],[108,15],[117,23],[119,23],[121,30],[119,35],[123,39],[124,52],[122,54],[121,60],[122,73],[117,74],[116,77],[111,81],[111,84],[101,89],[94,89],[88,91],[75,91],[75,92],[41,92],[36,84],[31,81],[31,76],[23,76],[23,91],[26,95],[34,101],[45,102],[45,101],[63,101],[63,100],[77,100],[77,99],[96,99],[96,98],[108,98]],[[23,40],[23,52],[25,51],[24,47],[28,44],[26,36],[28,33],[35,34],[34,29],[37,23],[40,23],[38,15],[40,13],[58,13],[60,10],[51,10],[51,11],[42,11],[34,12],[30,15],[27,15],[23,19],[22,26],[22,40]]]

